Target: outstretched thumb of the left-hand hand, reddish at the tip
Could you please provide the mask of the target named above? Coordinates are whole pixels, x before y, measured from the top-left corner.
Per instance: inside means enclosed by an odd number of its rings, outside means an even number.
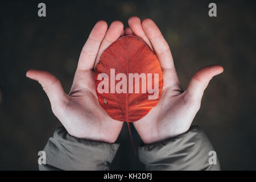
[[[28,78],[36,80],[42,85],[46,92],[51,106],[63,106],[67,103],[67,95],[65,94],[60,81],[51,73],[39,70],[29,70],[26,73]]]

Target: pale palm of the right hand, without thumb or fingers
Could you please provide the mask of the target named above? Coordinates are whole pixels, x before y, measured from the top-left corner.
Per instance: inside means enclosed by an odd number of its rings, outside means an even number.
[[[171,73],[163,73],[163,75],[166,74]],[[184,92],[180,88],[179,82],[170,82],[166,78],[163,79],[167,81],[167,83],[164,81],[164,84],[170,86],[163,89],[158,105],[146,117],[134,122],[135,128],[145,143],[157,142],[187,131],[193,120],[193,114],[189,113],[192,110],[193,113],[197,111],[194,108],[196,105],[189,107],[184,101]],[[148,133],[150,133],[150,137],[148,137]]]

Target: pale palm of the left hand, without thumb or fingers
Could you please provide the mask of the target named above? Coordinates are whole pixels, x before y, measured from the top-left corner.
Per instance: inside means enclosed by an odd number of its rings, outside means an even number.
[[[78,138],[114,142],[122,122],[110,118],[98,103],[94,72],[77,72],[73,85],[68,95],[69,102],[61,115],[61,121],[72,121],[66,126],[69,134]]]

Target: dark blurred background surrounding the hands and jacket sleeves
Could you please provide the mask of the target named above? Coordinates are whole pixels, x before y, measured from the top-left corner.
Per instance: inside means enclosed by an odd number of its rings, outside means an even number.
[[[39,18],[38,3],[47,7]],[[210,2],[217,17],[208,16]],[[152,18],[169,43],[183,88],[197,69],[220,64],[225,71],[205,91],[193,124],[213,143],[224,170],[256,169],[255,16],[253,1],[1,1],[0,169],[38,169],[60,122],[41,86],[26,78],[45,69],[69,92],[81,48],[94,24],[137,15]],[[141,144],[131,128],[135,144]],[[127,125],[112,169],[143,169],[133,154]],[[127,160],[132,158],[131,160]]]

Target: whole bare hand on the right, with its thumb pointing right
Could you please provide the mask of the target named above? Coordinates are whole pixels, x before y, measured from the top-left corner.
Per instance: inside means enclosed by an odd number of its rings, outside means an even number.
[[[125,34],[142,38],[155,51],[163,71],[163,93],[158,105],[137,122],[135,129],[144,143],[154,143],[175,137],[188,131],[193,118],[200,109],[201,98],[213,76],[223,72],[220,65],[201,68],[192,77],[187,90],[183,92],[174,67],[170,48],[159,28],[151,19],[141,23],[138,17],[131,17]]]

